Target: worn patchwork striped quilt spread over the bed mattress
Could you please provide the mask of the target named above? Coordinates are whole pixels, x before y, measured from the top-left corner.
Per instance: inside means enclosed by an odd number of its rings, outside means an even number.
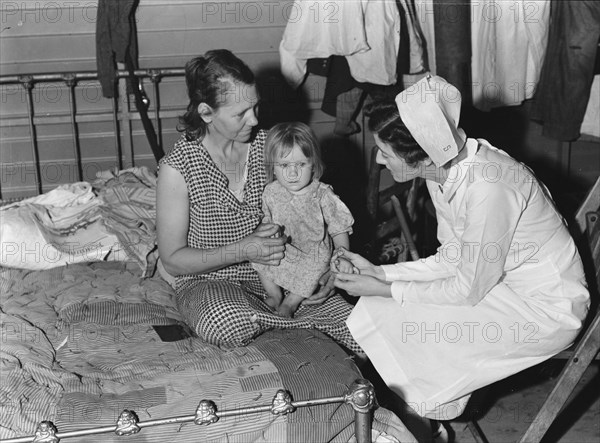
[[[141,421],[193,415],[202,399],[219,410],[263,406],[278,389],[288,389],[295,400],[336,397],[360,376],[318,331],[269,331],[230,349],[197,337],[164,342],[152,326],[157,318],[138,308],[163,307],[163,324],[176,324],[172,288],[158,277],[141,279],[128,266],[0,268],[0,439],[32,435],[41,420],[54,422],[59,432],[114,426],[123,409]],[[65,316],[77,301],[88,317]],[[102,315],[107,301],[137,315],[130,321]],[[144,428],[126,440],[341,443],[353,437],[353,416],[348,405],[318,405],[289,416],[264,412],[209,426]],[[374,435],[386,438],[379,441],[414,441],[385,409],[376,411],[373,426]],[[113,433],[87,439],[123,440]]]

